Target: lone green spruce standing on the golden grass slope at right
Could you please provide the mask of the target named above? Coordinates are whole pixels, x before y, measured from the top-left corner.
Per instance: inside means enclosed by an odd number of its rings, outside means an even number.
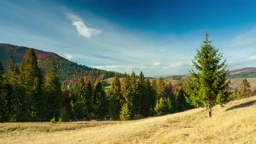
[[[206,107],[208,118],[211,118],[212,107],[219,104],[223,106],[228,101],[228,89],[230,81],[226,82],[228,70],[226,69],[226,59],[221,62],[222,54],[212,46],[212,41],[205,34],[205,40],[201,49],[197,49],[193,65],[197,69],[190,72],[191,77],[184,84],[187,95],[186,100],[196,107]]]

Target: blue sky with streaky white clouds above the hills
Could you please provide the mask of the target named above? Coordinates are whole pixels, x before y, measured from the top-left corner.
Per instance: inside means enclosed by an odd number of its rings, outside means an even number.
[[[256,67],[255,0],[0,0],[0,43],[146,76],[187,74],[206,30],[229,69]]]

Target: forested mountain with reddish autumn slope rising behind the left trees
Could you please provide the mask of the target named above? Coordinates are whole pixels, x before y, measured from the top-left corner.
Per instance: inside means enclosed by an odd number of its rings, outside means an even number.
[[[7,58],[11,54],[13,55],[17,65],[19,65],[22,59],[27,58],[30,49],[31,48],[27,48],[24,46],[15,46],[11,44],[0,43],[0,60],[6,68]],[[38,65],[44,73],[49,68],[50,59],[56,59],[56,64],[58,65],[59,69],[59,78],[62,81],[63,89],[66,89],[67,86],[72,86],[74,84],[73,82],[78,80],[81,76],[84,77],[85,82],[88,82],[90,79],[96,80],[114,77],[115,73],[117,73],[119,76],[123,75],[118,72],[95,69],[85,65],[79,65],[76,62],[71,62],[68,59],[65,59],[53,52],[45,52],[39,49],[34,49],[34,51],[38,58]]]

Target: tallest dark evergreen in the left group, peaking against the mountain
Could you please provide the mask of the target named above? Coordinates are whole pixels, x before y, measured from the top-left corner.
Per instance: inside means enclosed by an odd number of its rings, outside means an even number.
[[[37,65],[37,57],[33,49],[28,53],[28,59],[20,64],[20,79],[26,89],[24,103],[26,105],[26,118],[28,121],[42,120],[43,111],[43,73]]]

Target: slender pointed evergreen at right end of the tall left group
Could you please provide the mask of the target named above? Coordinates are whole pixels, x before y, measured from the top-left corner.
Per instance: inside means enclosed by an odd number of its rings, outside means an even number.
[[[46,91],[47,91],[47,120],[51,120],[53,117],[59,118],[62,111],[62,90],[61,83],[58,76],[58,68],[55,59],[50,62],[50,68],[46,72]]]

